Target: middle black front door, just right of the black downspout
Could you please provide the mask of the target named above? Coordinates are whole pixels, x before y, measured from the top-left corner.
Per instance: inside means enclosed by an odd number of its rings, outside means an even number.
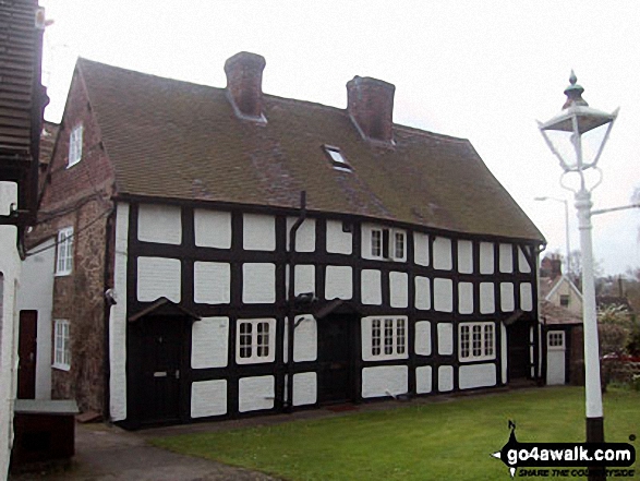
[[[354,325],[352,315],[329,315],[317,323],[319,404],[352,399],[351,333]]]

